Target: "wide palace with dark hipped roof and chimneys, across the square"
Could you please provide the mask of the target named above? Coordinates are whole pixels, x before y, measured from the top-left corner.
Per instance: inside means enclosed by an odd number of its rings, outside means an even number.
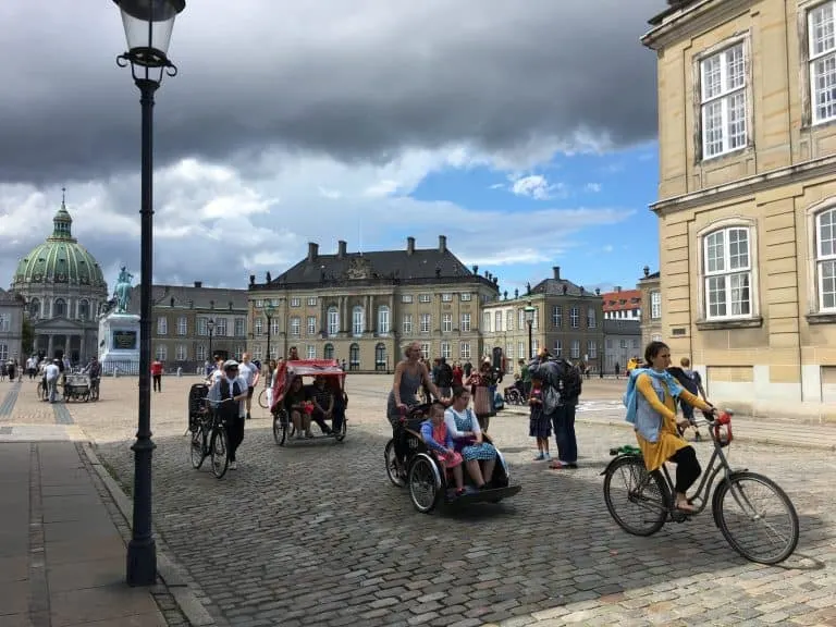
[[[287,356],[337,359],[358,371],[389,371],[402,347],[419,342],[427,359],[474,360],[482,351],[481,305],[495,300],[497,279],[468,269],[439,237],[435,248],[333,255],[308,244],[308,256],[265,283],[249,280],[254,359]],[[270,314],[272,307],[272,314]],[[270,322],[268,323],[268,315]]]

